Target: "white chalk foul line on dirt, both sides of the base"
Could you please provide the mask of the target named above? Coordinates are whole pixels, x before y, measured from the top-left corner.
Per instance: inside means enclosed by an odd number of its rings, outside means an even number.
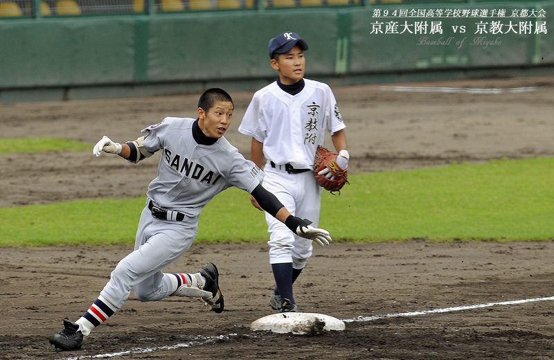
[[[554,296],[549,296],[546,298],[529,298],[529,299],[523,299],[523,300],[501,301],[499,303],[462,305],[462,306],[456,306],[456,307],[445,307],[443,309],[421,310],[418,312],[397,312],[397,313],[385,314],[385,315],[358,316],[357,318],[346,318],[346,319],[343,319],[342,321],[344,321],[345,323],[355,323],[355,322],[363,322],[363,321],[375,321],[382,318],[401,318],[401,317],[420,316],[420,315],[427,315],[427,314],[442,314],[445,312],[459,312],[463,310],[481,309],[483,307],[492,307],[492,306],[499,306],[499,305],[518,305],[518,304],[524,304],[524,303],[535,303],[537,301],[552,301],[552,300],[554,300]],[[211,343],[215,343],[216,341],[229,340],[234,336],[237,336],[237,334],[226,334],[226,335],[219,335],[219,336],[197,336],[195,337],[194,340],[188,341],[186,343],[177,343],[175,345],[163,345],[163,346],[156,346],[152,348],[132,348],[130,350],[111,352],[107,354],[82,355],[78,357],[62,357],[57,360],[109,359],[110,357],[120,357],[120,356],[133,355],[133,354],[145,354],[147,352],[157,352],[157,351],[173,350],[173,349],[179,349],[179,348],[191,348],[197,345],[208,345]]]

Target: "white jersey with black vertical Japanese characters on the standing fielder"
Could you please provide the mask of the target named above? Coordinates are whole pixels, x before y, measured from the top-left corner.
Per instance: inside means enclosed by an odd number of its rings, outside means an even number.
[[[304,82],[294,96],[277,82],[256,91],[238,129],[263,143],[267,160],[290,163],[296,169],[312,168],[325,130],[332,135],[346,127],[330,87],[314,80]]]

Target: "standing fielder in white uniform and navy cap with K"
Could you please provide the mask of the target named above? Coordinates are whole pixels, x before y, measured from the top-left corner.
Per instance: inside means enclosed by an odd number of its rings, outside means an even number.
[[[305,40],[285,32],[271,39],[268,47],[278,79],[254,94],[239,132],[252,137],[251,160],[260,168],[267,160],[264,187],[292,214],[311,219],[317,227],[322,188],[313,174],[316,149],[329,132],[339,152],[337,163],[346,170],[350,157],[346,125],[330,87],[304,78]],[[262,210],[254,197],[251,201]],[[276,281],[269,304],[276,310],[297,311],[292,284],[312,255],[312,241],[294,235],[267,213],[266,221],[269,263]]]

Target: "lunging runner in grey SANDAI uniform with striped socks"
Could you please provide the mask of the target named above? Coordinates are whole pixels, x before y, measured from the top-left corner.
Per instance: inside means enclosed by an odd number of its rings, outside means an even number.
[[[208,263],[197,273],[163,273],[163,268],[183,255],[197,235],[202,208],[215,195],[236,186],[255,197],[262,208],[286,223],[291,231],[329,244],[329,233],[310,221],[290,215],[278,199],[260,185],[263,172],[247,161],[223,137],[231,124],[233,100],[222,89],[208,89],[199,99],[197,119],[165,118],[143,129],[145,136],[120,144],[104,136],[93,148],[118,154],[131,163],[161,151],[158,176],[148,186],[145,208],[136,231],[134,251],[121,260],[100,296],[75,323],[64,319],[64,328],[50,343],[62,350],[82,345],[83,335],[107,321],[123,306],[134,289],[141,301],[168,296],[205,300],[216,313],[223,312],[219,273]],[[311,241],[310,240],[310,241]]]

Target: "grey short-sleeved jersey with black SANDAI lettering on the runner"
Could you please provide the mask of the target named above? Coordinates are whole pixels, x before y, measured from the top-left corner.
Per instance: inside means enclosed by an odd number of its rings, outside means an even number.
[[[237,148],[222,137],[213,145],[199,145],[193,138],[193,118],[168,117],[144,132],[143,146],[149,152],[163,150],[158,176],[147,195],[157,206],[197,217],[202,208],[226,188],[236,186],[252,192],[263,172],[244,159]]]

